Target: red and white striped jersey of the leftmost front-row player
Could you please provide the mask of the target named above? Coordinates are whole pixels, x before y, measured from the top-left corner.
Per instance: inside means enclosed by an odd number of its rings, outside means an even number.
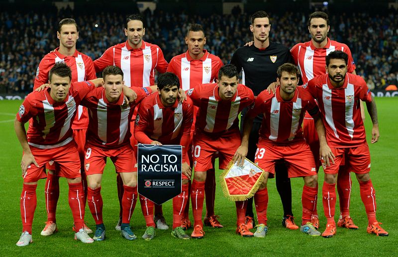
[[[27,131],[28,143],[44,149],[72,141],[72,121],[76,110],[82,99],[94,89],[95,85],[89,81],[74,82],[63,102],[55,102],[50,96],[50,89],[30,93],[16,115],[21,123],[32,118]]]

